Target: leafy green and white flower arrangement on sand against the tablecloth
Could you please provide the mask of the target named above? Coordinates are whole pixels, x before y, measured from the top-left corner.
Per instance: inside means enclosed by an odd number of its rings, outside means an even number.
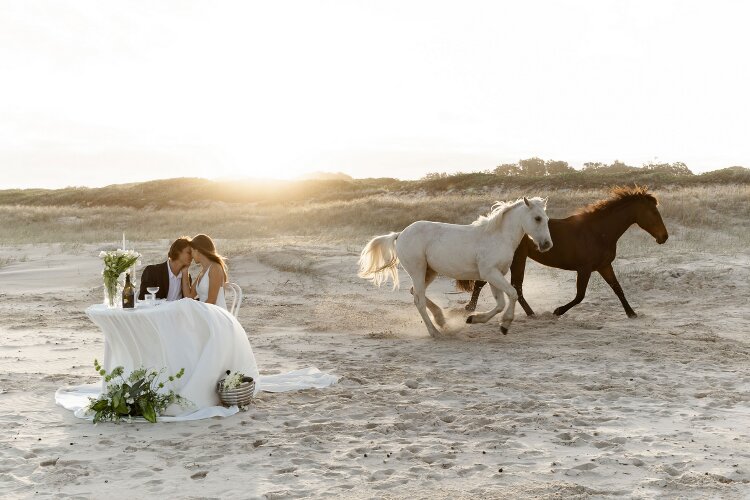
[[[127,419],[129,422],[132,417],[143,417],[151,423],[156,423],[156,417],[169,405],[184,405],[187,402],[172,390],[160,394],[158,390],[164,388],[164,382],[157,382],[159,372],[154,370],[141,368],[124,378],[122,366],[107,373],[99,361],[94,360],[94,368],[107,383],[107,392],[102,393],[98,399],[90,398],[91,403],[87,408],[89,412],[94,413],[95,424],[102,420],[119,422]],[[185,369],[181,368],[175,375],[169,376],[169,381],[174,382],[184,374]],[[113,382],[117,378],[119,382]]]

